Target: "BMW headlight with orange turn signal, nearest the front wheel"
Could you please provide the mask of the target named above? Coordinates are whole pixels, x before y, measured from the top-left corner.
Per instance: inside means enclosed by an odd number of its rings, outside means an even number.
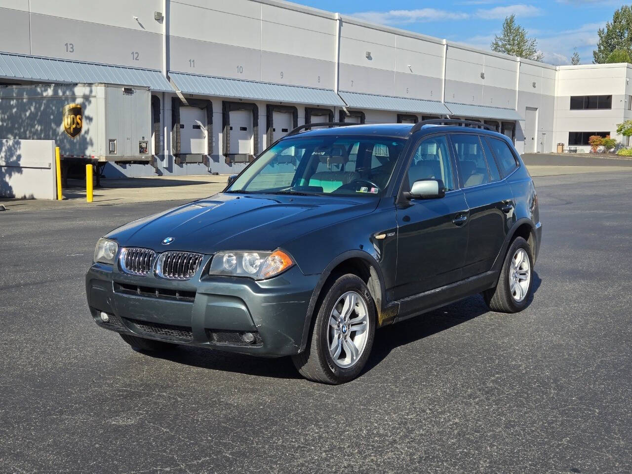
[[[292,257],[279,249],[274,252],[217,252],[210,262],[209,275],[262,280],[277,276],[292,265]]]

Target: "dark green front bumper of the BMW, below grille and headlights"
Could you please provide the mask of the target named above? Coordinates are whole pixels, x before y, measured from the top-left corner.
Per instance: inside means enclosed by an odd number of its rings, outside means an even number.
[[[201,265],[205,268],[206,265]],[[85,277],[90,312],[111,331],[189,346],[260,356],[300,351],[307,310],[319,276],[295,265],[264,281],[196,275],[169,281],[94,264]],[[100,312],[111,315],[102,322]],[[255,341],[248,343],[243,334]]]

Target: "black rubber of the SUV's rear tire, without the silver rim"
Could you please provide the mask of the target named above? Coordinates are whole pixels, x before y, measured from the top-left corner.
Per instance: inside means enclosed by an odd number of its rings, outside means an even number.
[[[511,275],[511,259],[518,249],[523,249],[529,259],[530,279],[529,285],[526,289],[526,296],[521,301],[516,301],[516,298],[512,295],[509,285],[509,276]],[[522,237],[516,237],[511,243],[509,249],[507,249],[507,255],[502,262],[501,275],[498,279],[498,283],[495,288],[490,288],[483,291],[483,299],[490,310],[501,313],[517,313],[526,308],[529,303],[531,292],[533,288],[533,255],[531,253],[531,247],[526,240]]]

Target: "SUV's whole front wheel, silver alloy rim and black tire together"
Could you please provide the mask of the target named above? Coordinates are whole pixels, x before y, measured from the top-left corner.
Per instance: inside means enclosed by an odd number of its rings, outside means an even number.
[[[375,337],[375,303],[360,277],[339,277],[320,301],[302,353],[292,357],[306,379],[324,384],[353,380],[364,368]]]

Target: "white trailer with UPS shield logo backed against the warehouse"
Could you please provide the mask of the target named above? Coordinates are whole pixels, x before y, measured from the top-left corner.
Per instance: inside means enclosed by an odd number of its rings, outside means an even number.
[[[0,87],[0,138],[54,140],[65,163],[148,164],[151,92],[101,83]]]

